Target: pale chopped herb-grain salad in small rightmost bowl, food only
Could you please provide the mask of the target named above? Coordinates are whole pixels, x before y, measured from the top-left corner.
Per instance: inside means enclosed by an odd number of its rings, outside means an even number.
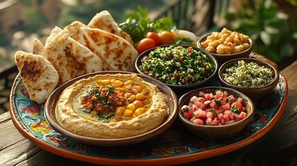
[[[264,86],[273,81],[273,72],[270,68],[244,60],[226,68],[222,75],[226,82],[242,87]]]

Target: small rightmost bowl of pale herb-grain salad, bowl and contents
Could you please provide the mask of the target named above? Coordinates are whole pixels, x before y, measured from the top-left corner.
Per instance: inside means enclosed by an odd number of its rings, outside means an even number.
[[[222,64],[218,80],[222,86],[240,91],[257,101],[276,87],[279,72],[278,68],[261,59],[242,57]]]

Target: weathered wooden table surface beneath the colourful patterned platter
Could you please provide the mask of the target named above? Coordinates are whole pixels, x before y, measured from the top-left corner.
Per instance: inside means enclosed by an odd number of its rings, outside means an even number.
[[[297,165],[297,61],[280,73],[287,79],[287,107],[262,138],[228,154],[186,165]],[[108,164],[108,163],[107,163]],[[10,113],[0,115],[0,165],[92,165],[51,154],[17,131]]]

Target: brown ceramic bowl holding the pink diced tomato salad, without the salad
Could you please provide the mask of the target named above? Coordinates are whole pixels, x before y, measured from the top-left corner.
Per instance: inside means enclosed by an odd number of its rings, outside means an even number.
[[[210,126],[195,124],[193,122],[190,122],[190,120],[183,116],[183,113],[181,112],[181,107],[183,107],[183,105],[188,105],[190,102],[190,98],[192,98],[193,95],[199,96],[199,91],[203,91],[204,93],[215,94],[216,89],[224,89],[224,91],[228,92],[228,95],[233,95],[235,98],[242,98],[243,106],[245,106],[247,110],[246,117],[243,120],[240,120],[233,124]],[[185,93],[181,96],[181,98],[179,98],[179,120],[181,120],[181,123],[186,127],[186,129],[188,129],[188,131],[190,131],[190,133],[192,133],[192,135],[198,138],[218,140],[222,138],[235,136],[236,133],[240,132],[246,126],[246,124],[248,124],[252,120],[253,113],[253,102],[248,96],[244,95],[240,91],[225,88],[222,86],[208,86],[200,89],[195,89],[193,91]]]

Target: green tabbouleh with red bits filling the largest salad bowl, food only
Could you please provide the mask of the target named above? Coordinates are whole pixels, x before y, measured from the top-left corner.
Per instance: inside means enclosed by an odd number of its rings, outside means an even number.
[[[186,85],[201,82],[213,74],[215,64],[192,47],[157,47],[141,59],[139,70],[163,83]]]

